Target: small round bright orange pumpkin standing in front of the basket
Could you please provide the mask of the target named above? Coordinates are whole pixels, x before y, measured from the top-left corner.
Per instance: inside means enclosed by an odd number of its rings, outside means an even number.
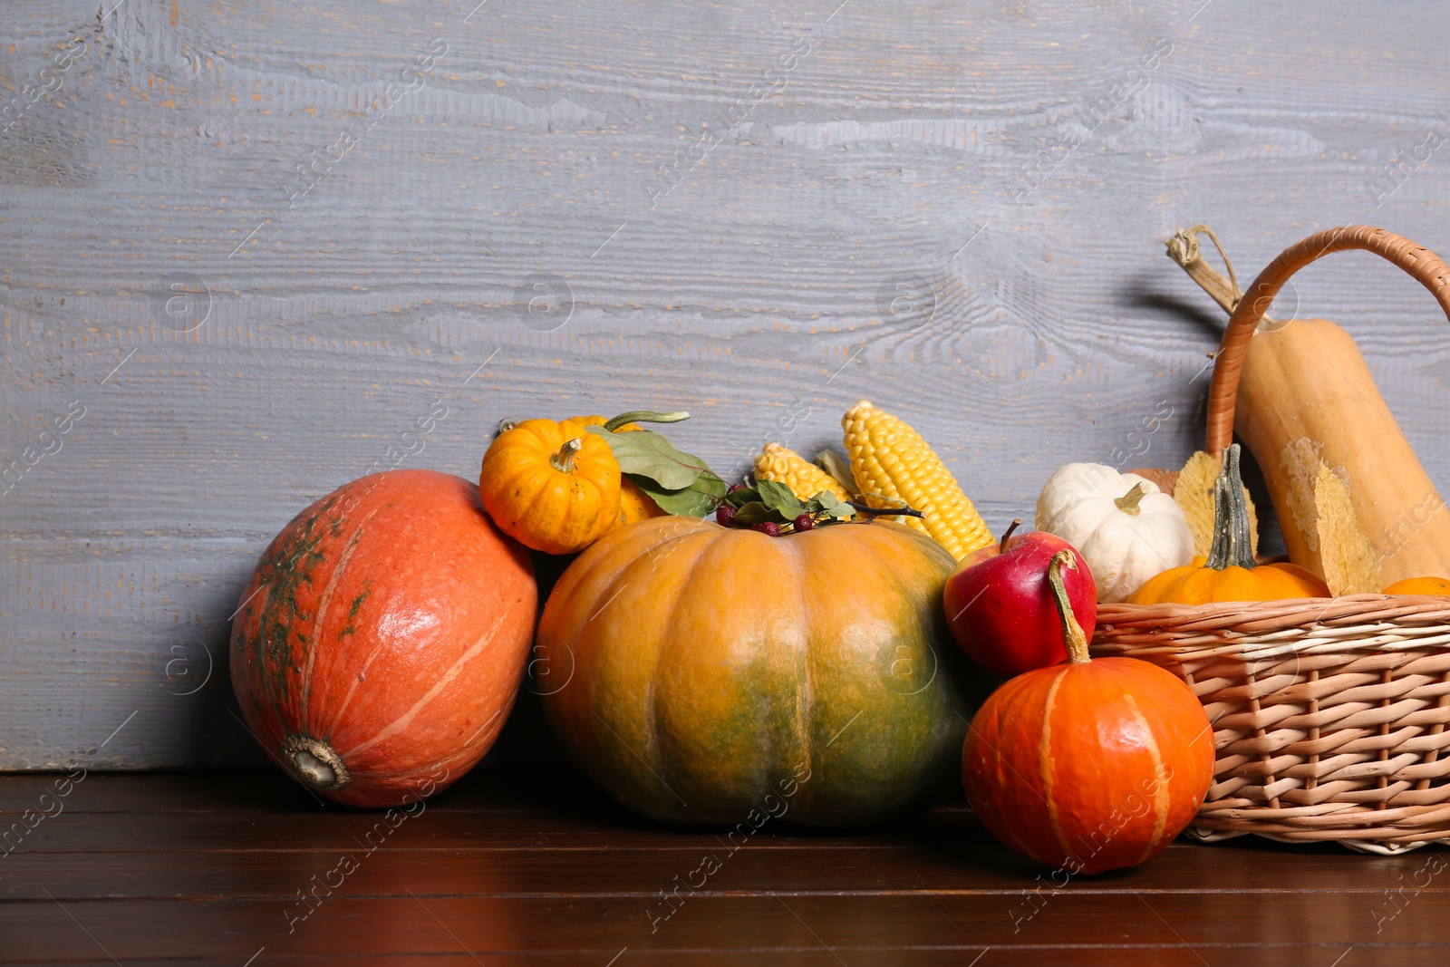
[[[972,719],[961,780],[1006,845],[1069,874],[1143,863],[1198,813],[1214,776],[1214,729],[1193,692],[1138,658],[1088,655],[1063,587],[1047,580],[1069,660],[1009,678]]]

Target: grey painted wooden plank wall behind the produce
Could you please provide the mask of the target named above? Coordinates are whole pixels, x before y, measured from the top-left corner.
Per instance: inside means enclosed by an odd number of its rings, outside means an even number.
[[[238,590],[435,400],[399,465],[473,476],[502,416],[687,407],[731,470],[870,397],[1000,528],[1163,402],[1132,462],[1199,444],[1174,228],[1450,249],[1433,3],[476,3],[3,6],[0,768],[257,761]],[[1430,297],[1293,299],[1443,478]]]

